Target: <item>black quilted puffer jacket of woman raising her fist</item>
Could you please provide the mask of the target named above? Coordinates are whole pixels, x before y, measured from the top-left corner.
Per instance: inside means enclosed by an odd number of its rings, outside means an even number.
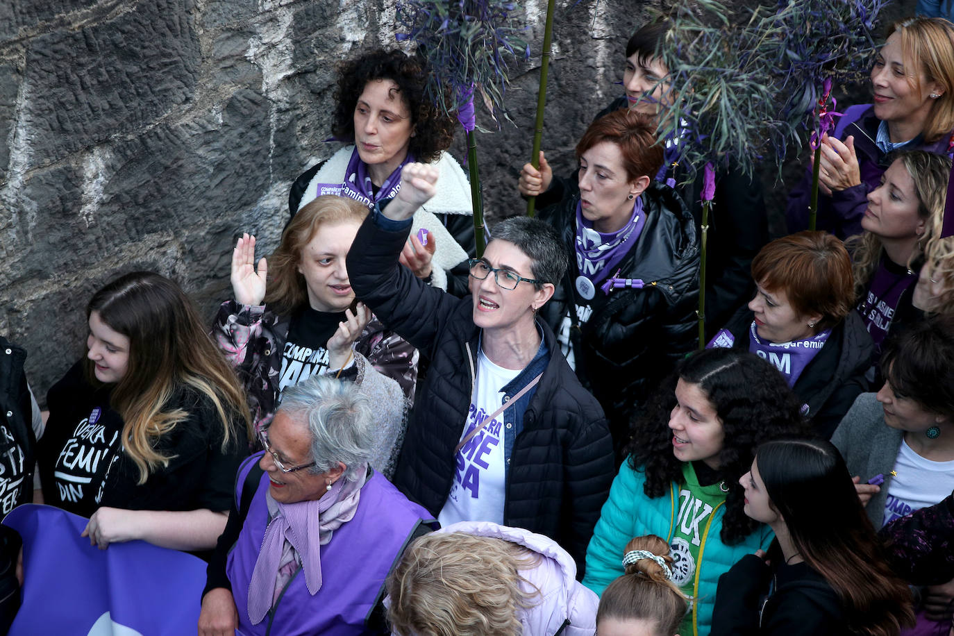
[[[471,297],[428,287],[398,266],[407,234],[387,232],[369,215],[347,268],[355,294],[430,359],[394,483],[437,516],[454,479],[454,448],[470,405],[467,347],[476,359],[480,329]],[[548,535],[570,552],[582,577],[587,544],[612,484],[612,443],[599,403],[573,376],[550,329],[541,326],[550,362],[513,442],[504,524]]]

